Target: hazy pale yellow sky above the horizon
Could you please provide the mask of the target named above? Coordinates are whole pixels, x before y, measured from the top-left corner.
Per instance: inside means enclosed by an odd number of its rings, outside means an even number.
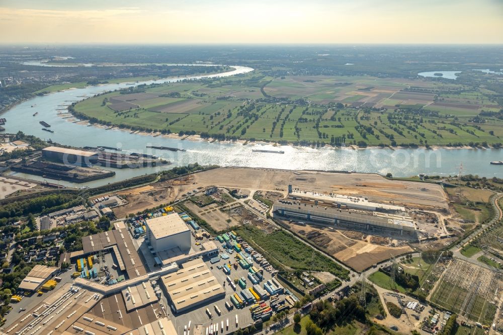
[[[0,0],[0,43],[503,43],[503,0]]]

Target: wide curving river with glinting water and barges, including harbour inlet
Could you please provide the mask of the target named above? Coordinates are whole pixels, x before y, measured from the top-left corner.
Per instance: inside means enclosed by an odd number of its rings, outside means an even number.
[[[252,71],[252,68],[233,66],[234,71],[209,75],[209,77],[228,76]],[[135,83],[150,84],[153,82],[174,82],[184,78],[199,78],[200,76],[188,76],[179,78],[167,78],[148,80]],[[107,84],[90,86],[84,89],[71,89],[55,92],[42,97],[36,97],[19,104],[2,115],[7,119],[6,132],[16,133],[23,131],[26,134],[35,135],[43,139],[52,139],[57,143],[82,146],[105,145],[121,147],[127,152],[143,152],[155,154],[170,160],[172,165],[144,169],[113,169],[116,176],[108,179],[94,181],[79,186],[90,187],[112,183],[134,176],[149,174],[159,169],[170,169],[174,165],[187,165],[198,162],[199,164],[218,164],[221,166],[249,166],[267,167],[272,169],[291,170],[343,170],[356,172],[370,172],[386,174],[392,173],[395,177],[409,177],[420,173],[430,175],[457,175],[459,166],[462,164],[463,174],[477,174],[483,177],[503,178],[503,165],[491,165],[490,161],[503,160],[501,149],[380,149],[368,148],[354,150],[350,148],[320,148],[281,146],[273,147],[269,144],[242,143],[210,143],[204,140],[180,140],[163,136],[153,137],[144,134],[132,134],[130,131],[89,126],[82,123],[72,123],[68,119],[58,116],[58,109],[64,108],[71,102],[92,97],[97,93],[131,87],[132,85]],[[32,107],[33,106],[33,107]],[[36,116],[33,116],[38,112]],[[39,121],[45,121],[51,125],[54,133],[42,130]],[[165,151],[147,149],[147,145],[170,146],[184,148],[187,151]],[[283,150],[285,153],[253,152],[252,149]],[[15,174],[19,177],[43,180],[42,177]],[[62,185],[75,186],[72,183],[59,182]]]

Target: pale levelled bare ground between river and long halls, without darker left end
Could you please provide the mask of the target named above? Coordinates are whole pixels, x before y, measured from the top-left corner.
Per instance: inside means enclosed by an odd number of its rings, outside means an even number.
[[[298,175],[296,175],[297,173]],[[317,192],[335,192],[367,196],[380,202],[394,201],[412,207],[448,208],[448,201],[439,185],[387,180],[374,174],[337,174],[325,172],[294,172],[288,170],[222,167],[194,175],[198,186],[217,185],[253,190],[294,188]]]

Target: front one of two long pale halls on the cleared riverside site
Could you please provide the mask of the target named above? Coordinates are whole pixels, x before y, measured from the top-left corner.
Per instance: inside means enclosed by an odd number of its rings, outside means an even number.
[[[415,226],[410,218],[393,214],[343,210],[297,201],[277,201],[273,212],[283,217],[320,222],[334,227],[373,231],[415,237]],[[408,220],[409,219],[409,220]]]

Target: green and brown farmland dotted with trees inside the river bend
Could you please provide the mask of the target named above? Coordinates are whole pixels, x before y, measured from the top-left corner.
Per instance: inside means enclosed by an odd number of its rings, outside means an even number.
[[[217,139],[335,146],[500,143],[501,106],[494,92],[480,90],[426,79],[251,72],[129,88],[72,108],[94,123]]]

